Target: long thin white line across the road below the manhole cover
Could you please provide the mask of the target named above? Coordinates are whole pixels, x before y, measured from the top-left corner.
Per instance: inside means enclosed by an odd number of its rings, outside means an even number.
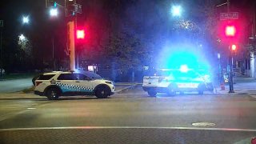
[[[207,127],[154,127],[154,126],[66,126],[66,127],[30,127],[30,128],[9,128],[0,131],[13,130],[95,130],[95,129],[166,129],[166,130],[220,130],[220,131],[247,131],[256,132],[256,129],[237,129],[237,128],[207,128]]]

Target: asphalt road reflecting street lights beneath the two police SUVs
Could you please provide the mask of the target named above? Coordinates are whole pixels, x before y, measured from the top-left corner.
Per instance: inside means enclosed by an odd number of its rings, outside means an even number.
[[[140,86],[110,98],[2,94],[0,143],[250,143],[249,94],[158,94]]]

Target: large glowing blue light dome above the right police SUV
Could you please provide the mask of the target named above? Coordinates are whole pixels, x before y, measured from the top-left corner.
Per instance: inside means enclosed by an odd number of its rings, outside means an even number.
[[[198,46],[184,43],[164,46],[158,55],[156,64],[159,68],[176,69],[179,72],[182,72],[180,70],[182,65],[186,65],[189,71],[206,70],[210,72],[209,61],[205,52],[199,50]],[[186,72],[186,68],[184,70]]]

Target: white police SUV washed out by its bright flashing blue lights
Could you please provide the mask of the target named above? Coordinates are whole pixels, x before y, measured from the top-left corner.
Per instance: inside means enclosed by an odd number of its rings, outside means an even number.
[[[214,90],[210,75],[204,70],[190,70],[186,65],[178,70],[162,69],[154,76],[144,76],[142,88],[150,96],[157,93],[174,95],[176,92],[183,94],[190,91],[203,94],[204,91]]]

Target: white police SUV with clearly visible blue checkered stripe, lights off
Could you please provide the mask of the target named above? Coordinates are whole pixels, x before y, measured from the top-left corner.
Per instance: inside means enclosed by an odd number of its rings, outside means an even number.
[[[70,95],[95,95],[97,98],[107,98],[114,94],[114,84],[89,71],[53,71],[40,74],[35,81],[34,94],[46,96],[49,100]]]

